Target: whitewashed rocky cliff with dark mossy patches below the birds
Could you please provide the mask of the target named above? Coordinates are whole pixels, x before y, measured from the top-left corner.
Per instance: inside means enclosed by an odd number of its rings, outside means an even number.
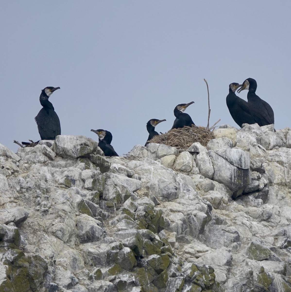
[[[291,291],[291,130],[207,147],[0,144],[0,292]]]

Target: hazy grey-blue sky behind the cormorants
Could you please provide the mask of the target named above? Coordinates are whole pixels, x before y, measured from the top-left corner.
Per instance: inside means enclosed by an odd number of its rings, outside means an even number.
[[[144,145],[149,119],[168,131],[173,109],[194,123],[237,126],[226,106],[229,84],[256,79],[274,110],[275,128],[291,127],[291,1],[7,1],[0,17],[0,143],[39,140],[39,95],[50,96],[62,135],[90,129],[113,135],[119,155]],[[247,91],[239,96],[246,100]],[[238,126],[237,126],[238,127]]]

